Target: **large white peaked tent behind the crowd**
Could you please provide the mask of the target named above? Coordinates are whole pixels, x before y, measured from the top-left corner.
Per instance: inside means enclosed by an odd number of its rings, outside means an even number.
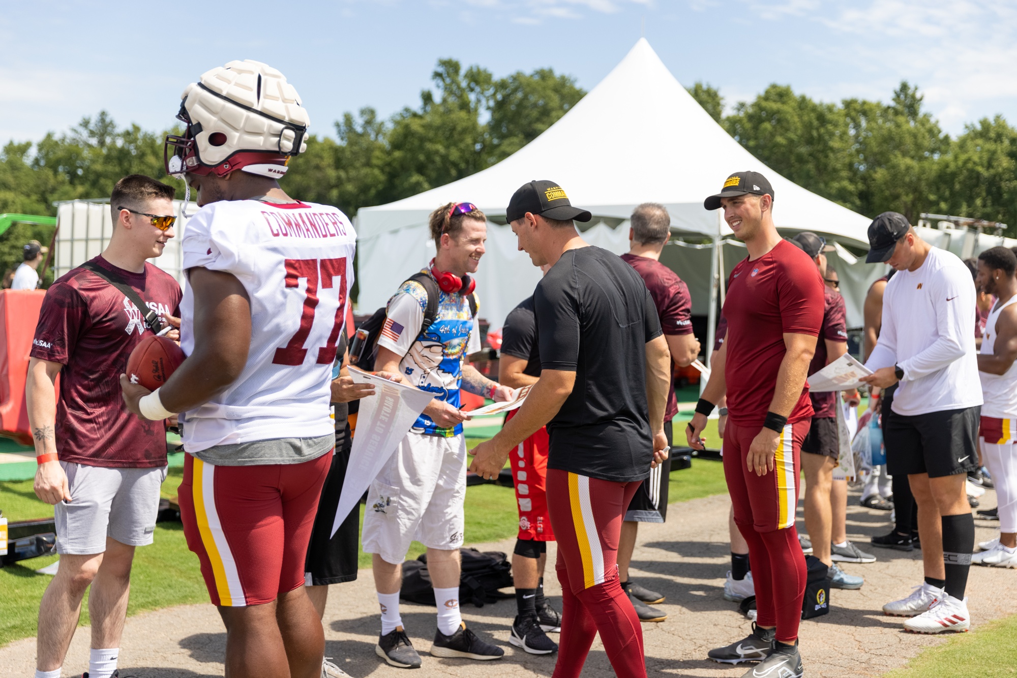
[[[696,103],[641,39],[575,108],[512,157],[451,184],[361,208],[358,305],[362,310],[383,305],[400,282],[433,256],[427,215],[445,202],[469,200],[488,215],[503,218],[517,188],[550,179],[567,191],[572,204],[593,212],[593,224],[606,219],[616,225],[636,205],[653,201],[667,207],[675,232],[716,240],[731,232],[719,210],[703,208],[703,199],[716,193],[729,174],[744,170],[770,179],[774,219],[781,230],[815,231],[868,248],[869,219],[765,167]],[[623,252],[627,231],[627,223],[614,229],[604,224],[584,237]],[[701,259],[709,269],[709,255]],[[735,261],[726,261],[726,267]],[[508,311],[532,293],[539,275],[529,257],[517,251],[512,231],[489,223],[487,253],[477,278],[480,314],[492,327],[500,326]],[[715,294],[715,289],[697,288],[694,297]],[[855,312],[860,320],[860,304]]]

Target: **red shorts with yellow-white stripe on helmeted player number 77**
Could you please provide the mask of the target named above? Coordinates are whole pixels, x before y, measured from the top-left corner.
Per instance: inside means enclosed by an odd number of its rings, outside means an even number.
[[[332,454],[245,467],[184,457],[180,517],[213,605],[263,605],[304,585],[307,544]]]

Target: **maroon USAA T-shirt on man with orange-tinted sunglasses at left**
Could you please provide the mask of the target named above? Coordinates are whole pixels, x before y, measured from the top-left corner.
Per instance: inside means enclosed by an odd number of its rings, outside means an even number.
[[[180,286],[145,262],[143,273],[92,260],[116,273],[161,318],[180,316]],[[165,319],[164,319],[165,322]],[[56,444],[61,461],[91,467],[166,466],[166,427],[128,412],[120,390],[127,358],[146,332],[141,312],[115,287],[73,268],[46,291],[32,357],[63,365]]]

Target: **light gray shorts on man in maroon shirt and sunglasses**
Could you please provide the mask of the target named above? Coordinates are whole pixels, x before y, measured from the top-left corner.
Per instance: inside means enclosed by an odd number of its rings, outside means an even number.
[[[106,552],[106,538],[127,546],[152,544],[159,514],[159,488],[166,467],[104,469],[61,461],[70,501],[54,507],[57,553]]]

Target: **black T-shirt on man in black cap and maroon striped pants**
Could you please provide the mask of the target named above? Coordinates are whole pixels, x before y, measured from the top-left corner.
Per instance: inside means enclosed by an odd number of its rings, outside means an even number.
[[[619,483],[644,480],[653,460],[646,344],[661,334],[643,279],[599,247],[569,250],[533,295],[545,370],[576,372],[547,424],[551,469]]]

